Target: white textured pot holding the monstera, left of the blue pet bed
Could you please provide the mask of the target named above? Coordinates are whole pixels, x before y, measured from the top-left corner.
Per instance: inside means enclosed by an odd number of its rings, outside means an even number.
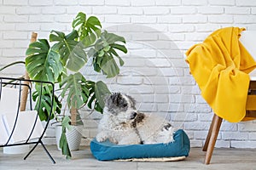
[[[67,144],[69,146],[69,150],[79,150],[79,146],[81,144],[82,134],[79,133],[80,129],[82,129],[83,126],[73,126],[72,130],[66,132],[67,137]],[[61,133],[62,133],[62,127],[56,126],[55,127],[55,137],[56,137],[56,143],[58,150],[61,150],[60,148],[60,139],[61,139]]]

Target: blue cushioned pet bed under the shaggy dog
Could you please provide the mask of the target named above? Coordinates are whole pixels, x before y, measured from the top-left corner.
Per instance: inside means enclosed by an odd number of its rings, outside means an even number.
[[[174,142],[169,144],[113,144],[109,141],[90,142],[92,155],[99,161],[125,160],[132,158],[161,158],[189,156],[188,135],[179,129],[174,133]]]

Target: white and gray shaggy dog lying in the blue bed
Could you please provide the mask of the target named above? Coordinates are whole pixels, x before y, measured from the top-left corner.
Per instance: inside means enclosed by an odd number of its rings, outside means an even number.
[[[135,100],[126,94],[114,93],[105,101],[96,140],[107,139],[115,144],[158,144],[173,142],[174,129],[160,116],[149,116],[136,110]]]

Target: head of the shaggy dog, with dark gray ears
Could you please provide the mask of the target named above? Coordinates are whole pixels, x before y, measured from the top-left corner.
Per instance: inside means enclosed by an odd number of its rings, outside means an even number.
[[[126,94],[114,93],[105,99],[108,114],[116,117],[119,122],[130,122],[137,116],[136,101]]]

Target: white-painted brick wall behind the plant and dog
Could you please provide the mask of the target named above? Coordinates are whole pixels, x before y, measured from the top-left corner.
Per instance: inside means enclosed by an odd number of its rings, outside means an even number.
[[[24,59],[32,31],[39,38],[49,31],[70,31],[75,14],[94,14],[102,26],[127,40],[129,54],[119,77],[106,80],[109,88],[131,94],[145,112],[158,112],[201,146],[212,110],[189,75],[183,52],[224,26],[256,30],[254,0],[0,0],[0,66]],[[84,72],[88,67],[85,67]],[[18,76],[19,65],[0,73]],[[91,76],[92,75],[92,76]],[[102,76],[91,78],[102,79]],[[85,111],[84,111],[85,115]],[[85,117],[84,144],[96,135],[99,114]],[[256,123],[224,122],[217,147],[256,148]],[[54,143],[54,129],[46,141]]]

